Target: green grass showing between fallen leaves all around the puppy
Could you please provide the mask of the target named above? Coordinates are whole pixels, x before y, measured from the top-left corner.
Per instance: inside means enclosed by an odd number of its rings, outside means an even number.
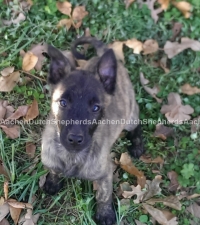
[[[4,1],[6,2],[6,1]],[[17,25],[0,27],[0,70],[8,66],[15,66],[16,69],[22,68],[22,59],[19,56],[20,50],[28,51],[32,44],[45,42],[56,46],[59,49],[69,49],[70,43],[76,37],[83,35],[86,27],[90,28],[91,34],[106,43],[115,40],[127,40],[137,38],[141,41],[155,39],[159,46],[172,36],[172,22],[183,24],[181,36],[200,40],[200,4],[197,0],[188,0],[193,4],[193,15],[185,19],[182,14],[174,7],[170,7],[166,12],[159,16],[158,23],[155,24],[151,19],[150,11],[147,7],[139,8],[137,3],[125,10],[123,1],[106,2],[99,0],[70,1],[73,6],[83,4],[86,6],[89,15],[84,19],[80,29],[71,28],[56,29],[58,21],[65,18],[60,12],[55,10],[55,1],[34,0],[31,10],[26,13],[26,20]],[[3,4],[0,0],[0,17],[10,19],[10,11],[13,5],[19,7],[17,1]],[[20,9],[21,10],[21,9]],[[161,90],[158,97],[167,102],[167,96],[170,92],[180,92],[179,88],[185,83],[200,87],[199,67],[200,52],[186,50],[173,59],[169,60],[170,73],[165,74],[162,69],[154,68],[150,65],[152,58],[149,56],[135,55],[132,50],[124,47],[125,66],[129,71],[131,81],[135,87],[136,99],[140,106],[141,119],[162,120],[165,119],[160,113],[160,104],[149,96],[142,88],[139,82],[139,72],[143,72],[151,84],[159,84]],[[6,55],[4,54],[6,53]],[[162,51],[159,54],[163,54]],[[155,59],[159,54],[154,56]],[[30,73],[46,79],[48,71],[48,60],[45,62],[42,71],[32,70]],[[21,73],[22,77],[26,73]],[[30,104],[34,98],[39,103],[40,115],[38,119],[45,119],[50,109],[50,95],[44,89],[45,83],[39,79],[33,79],[30,83],[22,86],[16,86],[10,93],[0,93],[0,98],[8,100],[14,107]],[[192,117],[200,115],[200,95],[187,96],[181,94],[184,104],[190,104],[194,108]],[[169,180],[167,172],[174,170],[179,174],[179,181],[184,187],[193,187],[193,193],[200,193],[200,173],[199,173],[199,149],[200,139],[190,138],[190,126],[170,125],[175,130],[175,138],[161,141],[153,137],[155,124],[144,124],[144,136],[146,139],[147,153],[153,157],[161,156],[165,159],[163,169],[160,171],[163,176],[162,194],[169,196],[167,186]],[[56,196],[47,196],[39,187],[39,178],[45,174],[40,162],[41,133],[43,126],[23,125],[21,137],[15,140],[8,139],[5,134],[0,133],[0,151],[1,158],[7,169],[11,173],[9,183],[9,195],[19,201],[32,201],[34,213],[41,213],[38,224],[95,224],[92,220],[95,210],[94,192],[92,184],[87,181],[77,179],[66,179],[65,189]],[[25,143],[33,140],[37,145],[34,168],[34,160],[30,160],[25,153]],[[174,141],[175,140],[175,141]],[[175,144],[174,144],[175,143]],[[113,147],[117,156],[126,151],[126,140],[118,140]],[[145,173],[148,179],[152,180],[155,174],[152,169],[158,169],[155,165],[147,165],[139,160],[133,160],[134,164]],[[194,170],[189,179],[184,178],[184,173],[191,172],[188,164],[193,164]],[[184,165],[186,165],[184,167]],[[26,172],[26,169],[28,171]],[[185,168],[185,170],[184,170]],[[185,171],[185,172],[182,172]],[[119,170],[120,182],[128,181],[136,184],[133,176]],[[2,186],[4,178],[0,176],[0,185]],[[149,216],[144,215],[140,205],[136,205],[131,200],[131,206],[128,209],[126,205],[121,205],[120,199],[116,197],[119,183],[114,184],[115,208],[117,214],[117,224],[124,219],[123,224],[135,224],[135,219],[146,220],[145,224],[152,225]],[[0,195],[3,195],[3,189],[0,188]],[[179,224],[189,225],[191,215],[185,214],[185,208],[191,204],[192,200],[182,201],[182,210],[173,210],[173,214],[178,217]],[[163,205],[160,207],[164,208]],[[145,217],[146,216],[146,217]],[[9,221],[13,224],[12,220]]]

